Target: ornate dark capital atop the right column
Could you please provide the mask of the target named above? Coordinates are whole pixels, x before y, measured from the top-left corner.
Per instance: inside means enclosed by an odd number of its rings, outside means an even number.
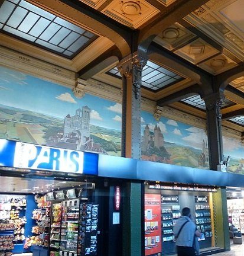
[[[210,94],[210,95],[207,95],[206,97],[203,97],[203,100],[205,101],[206,110],[207,111],[215,110],[217,119],[221,119],[222,114],[221,114],[220,108],[223,101],[225,100],[225,95],[223,95],[222,93]]]

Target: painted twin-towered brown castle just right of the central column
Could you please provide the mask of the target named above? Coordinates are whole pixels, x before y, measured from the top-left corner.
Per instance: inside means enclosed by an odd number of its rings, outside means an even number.
[[[157,125],[154,127],[154,133],[150,131],[148,124],[145,126],[142,150],[147,151],[149,146],[158,149],[164,146],[164,136],[162,135],[160,127]]]

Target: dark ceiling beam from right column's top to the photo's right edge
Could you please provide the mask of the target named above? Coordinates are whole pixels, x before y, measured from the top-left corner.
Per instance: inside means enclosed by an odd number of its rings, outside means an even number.
[[[222,91],[224,91],[230,82],[234,81],[236,78],[239,78],[240,76],[244,76],[244,62],[241,62],[238,66],[235,66],[234,68],[229,69],[228,71],[216,75],[214,77],[214,83],[220,89],[222,89]]]

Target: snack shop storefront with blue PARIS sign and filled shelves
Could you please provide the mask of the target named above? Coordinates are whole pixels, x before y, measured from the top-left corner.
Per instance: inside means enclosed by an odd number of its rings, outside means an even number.
[[[98,177],[98,161],[0,139],[0,254],[121,255],[123,183]]]

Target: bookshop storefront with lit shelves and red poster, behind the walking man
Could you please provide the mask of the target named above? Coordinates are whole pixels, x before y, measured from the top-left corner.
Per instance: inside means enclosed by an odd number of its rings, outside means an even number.
[[[213,193],[215,187],[145,183],[145,255],[174,255],[173,227],[184,207],[201,232],[201,252],[219,251],[214,241]]]

